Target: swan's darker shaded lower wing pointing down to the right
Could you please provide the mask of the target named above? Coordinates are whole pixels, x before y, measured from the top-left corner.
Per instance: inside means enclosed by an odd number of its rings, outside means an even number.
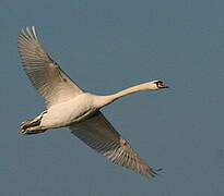
[[[156,174],[134,152],[129,143],[121,137],[102,112],[98,111],[84,122],[71,125],[70,128],[76,137],[113,162],[148,177]]]

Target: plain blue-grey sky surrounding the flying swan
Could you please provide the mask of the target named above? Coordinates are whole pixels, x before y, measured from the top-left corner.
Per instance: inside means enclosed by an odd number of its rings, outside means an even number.
[[[1,196],[223,196],[223,0],[1,0]],[[103,109],[154,168],[145,179],[98,156],[68,128],[19,135],[45,109],[16,36],[37,35],[71,78],[107,95],[163,79]]]

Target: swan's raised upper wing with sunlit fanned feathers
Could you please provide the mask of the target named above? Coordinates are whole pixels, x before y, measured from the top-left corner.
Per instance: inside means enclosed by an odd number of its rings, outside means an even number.
[[[23,69],[48,107],[82,93],[82,89],[45,52],[34,27],[21,32],[17,45]]]

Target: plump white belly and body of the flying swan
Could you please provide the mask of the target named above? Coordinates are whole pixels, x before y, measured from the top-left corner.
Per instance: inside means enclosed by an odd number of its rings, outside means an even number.
[[[40,126],[46,128],[68,126],[86,119],[95,111],[92,96],[83,94],[74,99],[50,107],[44,114]]]

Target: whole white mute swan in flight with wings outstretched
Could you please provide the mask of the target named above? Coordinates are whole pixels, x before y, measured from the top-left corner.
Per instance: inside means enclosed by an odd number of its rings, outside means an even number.
[[[22,122],[20,134],[69,126],[72,134],[113,162],[144,176],[155,176],[156,172],[134,152],[99,109],[122,96],[168,86],[161,81],[152,81],[109,96],[93,95],[81,89],[45,52],[34,26],[22,29],[17,45],[23,69],[47,105],[47,110],[38,117]]]

